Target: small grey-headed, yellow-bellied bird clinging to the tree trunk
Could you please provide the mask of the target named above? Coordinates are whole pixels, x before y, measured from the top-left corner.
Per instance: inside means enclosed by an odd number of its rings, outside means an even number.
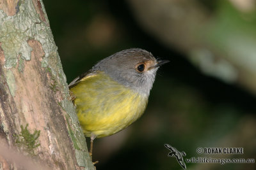
[[[100,60],[68,85],[79,123],[93,140],[122,131],[141,117],[156,78],[157,69],[169,60],[130,48]]]

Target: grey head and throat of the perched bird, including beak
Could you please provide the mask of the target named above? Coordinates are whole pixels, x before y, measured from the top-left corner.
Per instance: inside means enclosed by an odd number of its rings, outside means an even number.
[[[100,60],[93,70],[104,71],[113,80],[148,97],[157,69],[166,62],[168,61],[156,60],[146,50],[131,48]]]

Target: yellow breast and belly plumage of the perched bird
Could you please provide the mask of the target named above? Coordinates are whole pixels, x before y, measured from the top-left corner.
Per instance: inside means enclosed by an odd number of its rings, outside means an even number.
[[[70,89],[76,99],[77,117],[86,136],[97,138],[121,131],[137,120],[148,97],[120,85],[104,73],[83,78]]]

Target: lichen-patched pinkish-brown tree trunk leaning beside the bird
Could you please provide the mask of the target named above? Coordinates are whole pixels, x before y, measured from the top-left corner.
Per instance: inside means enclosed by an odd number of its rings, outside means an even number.
[[[0,169],[21,168],[4,145],[45,168],[95,169],[69,97],[42,1],[0,0]]]

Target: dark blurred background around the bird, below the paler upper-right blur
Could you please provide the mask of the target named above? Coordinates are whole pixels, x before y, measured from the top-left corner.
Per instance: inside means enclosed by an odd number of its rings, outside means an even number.
[[[212,2],[212,1],[211,1]],[[200,1],[210,11],[214,3]],[[255,159],[255,96],[207,76],[186,52],[141,27],[127,1],[44,0],[68,83],[97,61],[127,48],[170,60],[159,69],[145,114],[118,134],[95,140],[100,169],[181,169],[168,143],[190,157]],[[249,134],[246,134],[249,133]],[[253,138],[252,138],[253,136]],[[86,139],[89,141],[89,139]],[[249,144],[248,144],[249,143]],[[239,147],[243,155],[198,155],[198,147]],[[254,169],[255,164],[186,164],[188,169]]]

